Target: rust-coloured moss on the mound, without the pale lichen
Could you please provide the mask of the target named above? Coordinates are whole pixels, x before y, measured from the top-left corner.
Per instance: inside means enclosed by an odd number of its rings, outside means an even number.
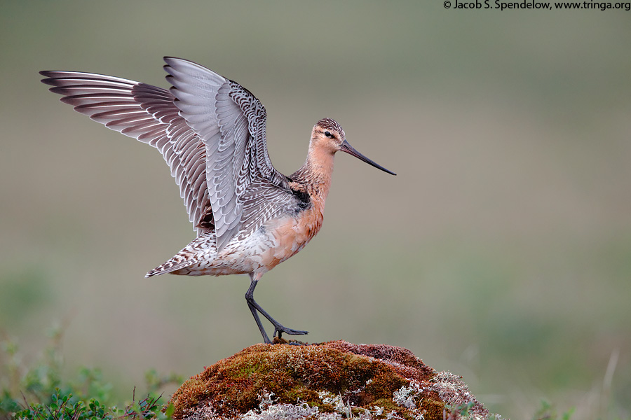
[[[264,393],[273,393],[275,402],[306,402],[332,412],[334,406],[319,395],[327,392],[341,397],[353,412],[378,406],[384,407],[384,416],[395,411],[413,419],[414,413],[395,404],[393,393],[411,380],[428,383],[434,375],[411,351],[393,346],[257,344],[184,382],[170,402],[176,420],[208,407],[218,416],[238,416],[257,409]],[[430,387],[415,398],[423,400],[426,419],[442,419],[445,403]]]

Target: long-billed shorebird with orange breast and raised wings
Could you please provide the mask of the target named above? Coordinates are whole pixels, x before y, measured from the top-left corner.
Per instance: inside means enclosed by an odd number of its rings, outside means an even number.
[[[169,89],[83,71],[40,71],[41,82],[75,111],[157,148],[170,167],[196,238],[146,277],[248,274],[245,300],[264,342],[273,343],[259,314],[273,325],[273,338],[307,334],[283,326],[255,301],[257,283],[322,227],[335,153],[396,174],[356,151],[337,121],[323,118],[311,130],[304,164],[285,176],[269,158],[266,111],[254,94],[195,62],[164,61]]]

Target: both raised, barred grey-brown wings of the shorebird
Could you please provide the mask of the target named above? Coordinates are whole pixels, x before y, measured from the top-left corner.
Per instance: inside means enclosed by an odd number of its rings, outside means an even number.
[[[78,71],[41,71],[62,102],[111,130],[158,148],[198,235],[220,251],[291,211],[288,179],[267,152],[266,112],[250,91],[194,62],[165,57],[170,91]],[[202,223],[203,222],[203,223]]]

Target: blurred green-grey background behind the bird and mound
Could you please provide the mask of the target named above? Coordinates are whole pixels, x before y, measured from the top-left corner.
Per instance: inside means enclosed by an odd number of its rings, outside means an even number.
[[[125,398],[150,368],[188,377],[260,341],[247,276],[144,279],[194,236],[165,162],[37,73],[166,87],[174,55],[261,99],[281,172],[329,116],[398,173],[337,157],[323,230],[257,288],[279,321],[311,342],[405,346],[513,419],[541,398],[573,419],[628,418],[630,17],[2,1],[0,333],[35,358],[66,325],[67,368],[102,367]]]

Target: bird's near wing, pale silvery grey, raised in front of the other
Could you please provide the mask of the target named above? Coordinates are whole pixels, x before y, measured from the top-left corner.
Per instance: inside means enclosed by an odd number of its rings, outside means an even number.
[[[179,115],[206,147],[208,197],[221,249],[292,203],[287,177],[267,153],[264,106],[232,80],[184,59],[165,57]]]

